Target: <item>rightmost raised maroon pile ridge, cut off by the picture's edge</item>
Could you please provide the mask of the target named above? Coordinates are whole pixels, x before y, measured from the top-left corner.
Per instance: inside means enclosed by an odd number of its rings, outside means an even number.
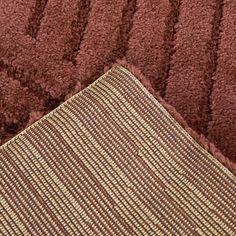
[[[222,19],[222,30],[221,30],[221,40],[219,45],[219,57],[218,57],[218,67],[216,73],[213,77],[213,91],[211,94],[212,102],[212,121],[210,121],[208,129],[208,137],[214,140],[219,148],[224,149],[226,155],[232,153],[232,159],[235,160],[236,155],[234,153],[236,142],[234,138],[236,137],[236,122],[235,119],[226,125],[231,118],[236,114],[234,109],[235,100],[235,36],[232,21],[232,12],[236,9],[236,4],[231,1],[224,3],[224,14]],[[231,28],[232,27],[232,28]],[[226,101],[225,103],[223,101]],[[219,116],[221,114],[221,116]],[[219,116],[219,117],[218,117]],[[220,128],[218,130],[218,128]],[[227,138],[232,139],[232,146],[221,143],[228,134]]]

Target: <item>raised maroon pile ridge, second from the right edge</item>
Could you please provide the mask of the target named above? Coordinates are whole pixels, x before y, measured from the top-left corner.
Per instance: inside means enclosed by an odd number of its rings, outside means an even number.
[[[191,9],[195,9],[196,4],[192,2]],[[172,58],[173,65],[165,98],[181,114],[185,113],[184,118],[190,126],[198,127],[197,131],[206,135],[210,112],[208,105],[212,77],[210,67],[215,59],[212,56],[215,50],[212,47],[214,44],[212,34],[215,34],[214,21],[218,6],[212,1],[201,1],[197,9],[186,11],[187,5],[188,1],[183,1],[181,4],[176,50]],[[194,23],[196,18],[199,18],[198,25]],[[185,89],[183,85],[189,89]],[[183,100],[188,102],[184,104]]]

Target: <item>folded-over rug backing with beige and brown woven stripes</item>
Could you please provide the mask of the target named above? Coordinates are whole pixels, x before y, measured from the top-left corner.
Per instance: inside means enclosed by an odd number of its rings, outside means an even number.
[[[236,234],[236,177],[121,66],[0,162],[1,235]]]

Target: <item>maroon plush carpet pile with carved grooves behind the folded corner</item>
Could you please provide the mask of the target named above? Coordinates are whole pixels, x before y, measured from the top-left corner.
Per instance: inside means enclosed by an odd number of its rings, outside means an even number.
[[[125,58],[236,161],[235,0],[0,1],[0,139]]]

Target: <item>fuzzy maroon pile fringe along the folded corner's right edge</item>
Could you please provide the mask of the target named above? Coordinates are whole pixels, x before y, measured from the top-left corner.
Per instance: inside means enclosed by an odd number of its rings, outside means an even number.
[[[216,158],[221,164],[223,164],[228,170],[236,175],[236,163],[232,162],[228,157],[222,154],[222,152],[203,134],[198,134],[194,129],[189,127],[182,115],[170,104],[168,104],[158,92],[153,88],[149,80],[143,75],[140,69],[127,62],[125,58],[117,60],[112,67],[105,67],[104,73],[108,72],[111,68],[123,66],[129,70],[142,84],[143,86],[157,99],[157,101],[170,113],[172,117],[181,125],[181,127],[206,151],[208,151],[214,158]]]

